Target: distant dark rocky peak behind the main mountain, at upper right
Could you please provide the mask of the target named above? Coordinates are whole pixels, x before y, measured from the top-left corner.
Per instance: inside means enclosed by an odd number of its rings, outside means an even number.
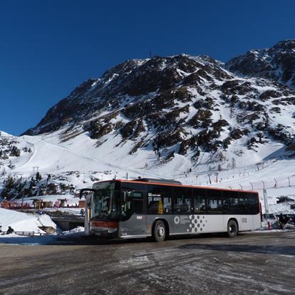
[[[269,49],[248,51],[232,58],[225,66],[235,73],[273,79],[295,88],[295,40],[281,41]]]

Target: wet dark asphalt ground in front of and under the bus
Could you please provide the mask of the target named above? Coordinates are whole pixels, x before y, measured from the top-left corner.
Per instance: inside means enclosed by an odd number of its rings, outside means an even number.
[[[294,281],[294,231],[0,244],[0,294],[295,294]]]

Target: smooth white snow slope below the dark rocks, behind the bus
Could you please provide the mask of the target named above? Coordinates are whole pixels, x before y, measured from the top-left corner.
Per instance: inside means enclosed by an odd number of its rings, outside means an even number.
[[[98,180],[109,180],[114,177],[125,179],[128,172],[130,178],[167,178],[180,180],[185,185],[253,189],[258,190],[260,195],[265,186],[270,202],[281,195],[295,199],[295,160],[286,160],[283,145],[276,142],[264,144],[259,152],[240,146],[239,149],[243,150],[242,157],[235,155],[237,147],[227,150],[224,152],[225,159],[221,162],[222,171],[217,174],[216,161],[210,159],[216,157],[213,154],[202,154],[200,160],[195,163],[188,160],[188,157],[175,154],[172,160],[165,162],[162,159],[159,161],[150,147],[130,155],[126,151],[130,150],[132,143],[119,144],[120,138],[112,138],[110,135],[106,135],[108,140],[100,146],[97,146],[96,141],[91,140],[86,133],[62,143],[62,131],[16,138],[19,148],[31,148],[31,153],[21,153],[20,157],[4,161],[6,171],[27,180],[30,180],[36,170],[43,175],[68,175],[65,181],[71,182],[77,189],[91,187],[93,182]],[[227,166],[232,157],[235,158],[237,167],[229,169]],[[15,166],[13,169],[7,166],[9,161]],[[259,170],[257,162],[262,163]],[[92,178],[93,175],[95,180]],[[290,187],[288,177],[291,180]],[[275,179],[277,188],[274,188]],[[0,176],[0,185],[3,180],[4,177]]]

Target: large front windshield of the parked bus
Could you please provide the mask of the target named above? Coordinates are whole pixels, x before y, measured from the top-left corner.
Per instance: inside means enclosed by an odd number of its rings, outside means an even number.
[[[114,219],[118,217],[119,192],[114,190],[115,183],[103,182],[93,186],[91,198],[91,218],[105,217]]]

